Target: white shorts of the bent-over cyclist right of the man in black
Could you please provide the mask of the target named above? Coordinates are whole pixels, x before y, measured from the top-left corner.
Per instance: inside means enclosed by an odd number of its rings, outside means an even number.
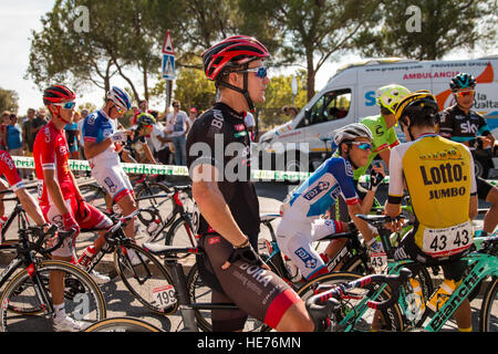
[[[277,228],[277,243],[282,253],[289,257],[309,280],[326,270],[326,264],[311,243],[338,232],[342,230],[335,220],[315,219],[310,223],[295,222],[283,217]]]

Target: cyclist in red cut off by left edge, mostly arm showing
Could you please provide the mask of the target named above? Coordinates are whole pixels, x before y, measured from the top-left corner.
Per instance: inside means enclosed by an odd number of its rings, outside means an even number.
[[[15,164],[12,160],[12,157],[9,153],[0,150],[0,176],[4,176],[7,178],[7,184],[3,179],[0,178],[0,191],[9,189],[9,185],[12,188],[12,191],[19,198],[22,207],[25,212],[33,219],[33,221],[38,226],[42,226],[45,223],[43,219],[43,214],[40,209],[40,206],[35,202],[34,198],[25,189],[24,183],[21,177],[19,177],[18,170],[15,169]],[[0,195],[0,215],[2,216],[2,222],[7,221],[7,217],[3,215],[6,212],[6,208],[3,206],[3,201],[1,200],[3,195]]]

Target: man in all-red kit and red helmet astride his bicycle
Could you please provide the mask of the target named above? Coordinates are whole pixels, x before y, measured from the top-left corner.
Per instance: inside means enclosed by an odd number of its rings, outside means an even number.
[[[39,180],[40,206],[49,222],[55,223],[65,230],[74,228],[105,229],[112,226],[112,221],[93,206],[84,201],[77,188],[74,175],[69,168],[69,147],[65,140],[64,126],[71,124],[74,113],[76,95],[63,85],[53,85],[43,93],[43,103],[49,108],[51,119],[34,139],[33,157],[35,173]],[[101,232],[94,242],[96,250],[105,242]],[[53,259],[71,261],[71,240],[52,253]],[[100,282],[106,282],[108,277],[93,272],[92,278]],[[62,274],[51,273],[50,284],[53,295],[55,331],[80,331],[83,323],[75,321],[64,311],[64,280]]]

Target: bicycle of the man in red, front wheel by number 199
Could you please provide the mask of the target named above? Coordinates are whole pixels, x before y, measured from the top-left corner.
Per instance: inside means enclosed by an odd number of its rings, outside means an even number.
[[[139,212],[141,210],[136,210],[125,218],[114,217],[115,223],[104,235],[105,244],[83,269],[86,272],[93,271],[106,254],[112,253],[117,275],[135,299],[154,313],[170,314],[178,306],[174,298],[172,277],[154,256],[127,238],[124,232],[126,222]],[[95,231],[98,230],[81,230],[81,232]],[[136,261],[132,261],[131,252],[136,254]],[[73,258],[79,259],[75,248],[73,248]]]

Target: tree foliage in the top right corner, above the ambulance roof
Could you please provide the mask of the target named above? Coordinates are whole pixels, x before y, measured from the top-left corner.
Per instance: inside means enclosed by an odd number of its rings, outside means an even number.
[[[384,0],[381,8],[378,25],[355,39],[369,56],[435,60],[455,49],[496,43],[496,0]]]

